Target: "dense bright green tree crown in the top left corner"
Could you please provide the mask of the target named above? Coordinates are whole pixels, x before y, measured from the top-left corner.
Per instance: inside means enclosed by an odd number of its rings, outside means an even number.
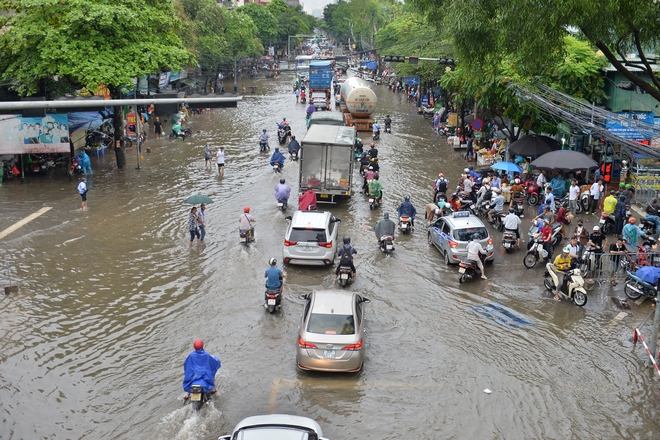
[[[22,96],[61,81],[95,89],[193,61],[167,0],[3,0],[2,79]],[[44,90],[48,89],[48,90]]]

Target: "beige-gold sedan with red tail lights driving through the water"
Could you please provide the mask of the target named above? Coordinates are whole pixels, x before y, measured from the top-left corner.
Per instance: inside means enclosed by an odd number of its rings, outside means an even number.
[[[305,300],[296,362],[302,370],[357,372],[364,363],[364,306],[371,302],[342,290],[313,291]]]

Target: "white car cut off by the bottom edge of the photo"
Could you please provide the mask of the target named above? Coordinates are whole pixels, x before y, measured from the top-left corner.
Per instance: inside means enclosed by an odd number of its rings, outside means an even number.
[[[273,440],[308,439],[327,440],[315,420],[286,414],[252,416],[239,422],[231,435],[223,435],[218,440]]]

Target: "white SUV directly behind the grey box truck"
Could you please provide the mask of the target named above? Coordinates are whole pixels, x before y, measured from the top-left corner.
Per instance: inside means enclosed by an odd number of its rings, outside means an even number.
[[[340,219],[325,211],[296,211],[286,219],[290,222],[284,235],[285,263],[316,266],[334,263]]]

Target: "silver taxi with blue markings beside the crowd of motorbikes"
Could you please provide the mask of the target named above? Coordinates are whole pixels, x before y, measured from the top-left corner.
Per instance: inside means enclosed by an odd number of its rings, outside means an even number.
[[[479,243],[488,252],[486,261],[493,261],[493,239],[479,217],[469,211],[457,211],[431,223],[428,240],[442,253],[447,265],[459,264],[467,260],[467,245],[476,233],[481,236]]]

